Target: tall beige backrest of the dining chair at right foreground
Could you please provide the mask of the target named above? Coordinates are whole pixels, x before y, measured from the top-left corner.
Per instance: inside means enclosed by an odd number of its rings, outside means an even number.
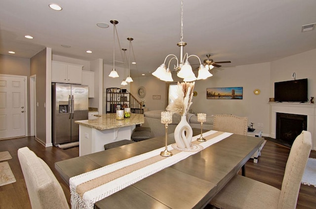
[[[312,136],[303,131],[293,142],[287,159],[278,209],[295,209],[307,160],[312,148]]]

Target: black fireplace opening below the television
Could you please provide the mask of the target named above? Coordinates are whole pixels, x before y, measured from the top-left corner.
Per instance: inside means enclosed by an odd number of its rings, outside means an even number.
[[[276,112],[276,139],[292,145],[303,130],[307,131],[307,115]]]

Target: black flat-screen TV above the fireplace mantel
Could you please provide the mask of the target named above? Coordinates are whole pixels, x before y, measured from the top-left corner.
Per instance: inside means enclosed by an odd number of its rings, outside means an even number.
[[[275,102],[307,101],[307,78],[275,82]]]

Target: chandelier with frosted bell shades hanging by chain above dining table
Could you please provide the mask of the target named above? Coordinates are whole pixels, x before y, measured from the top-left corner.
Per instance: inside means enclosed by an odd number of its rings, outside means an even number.
[[[186,42],[183,41],[183,0],[181,0],[181,35],[180,35],[180,42],[177,43],[177,45],[180,47],[180,62],[177,56],[174,54],[169,54],[164,59],[163,64],[161,64],[155,72],[152,74],[156,77],[158,77],[160,80],[163,81],[173,81],[170,67],[170,62],[175,59],[177,61],[177,65],[174,66],[174,70],[177,71],[177,76],[180,78],[183,78],[183,81],[194,81],[199,79],[206,79],[212,74],[208,71],[207,68],[204,67],[204,65],[201,64],[201,60],[198,58],[197,55],[188,55],[188,53],[185,53],[183,56],[183,48],[187,45]],[[171,57],[168,63],[168,68],[166,67],[165,63],[168,57]],[[196,57],[199,61],[199,67],[198,67],[198,76],[194,74],[192,67],[188,61],[190,57]]]

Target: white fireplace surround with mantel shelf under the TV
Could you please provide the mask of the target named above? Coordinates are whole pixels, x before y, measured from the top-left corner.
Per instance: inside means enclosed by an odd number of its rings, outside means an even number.
[[[312,134],[312,149],[316,150],[316,104],[269,103],[271,105],[271,133],[276,139],[276,112],[307,115],[307,131]]]

